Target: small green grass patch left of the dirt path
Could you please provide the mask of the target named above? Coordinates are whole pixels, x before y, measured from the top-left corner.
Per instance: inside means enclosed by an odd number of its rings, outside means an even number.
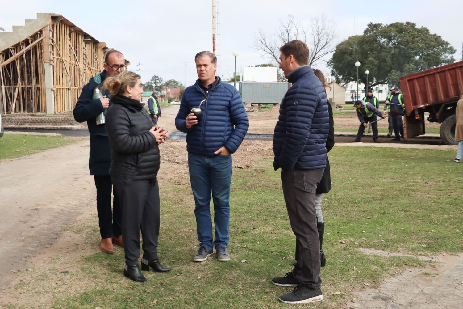
[[[75,139],[56,135],[23,135],[5,132],[0,138],[0,160],[18,158],[38,151],[74,143]]]

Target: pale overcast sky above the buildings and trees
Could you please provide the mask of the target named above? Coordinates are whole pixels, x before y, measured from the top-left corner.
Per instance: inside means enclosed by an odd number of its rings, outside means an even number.
[[[143,82],[158,75],[164,80],[186,81],[189,86],[197,79],[194,55],[212,50],[212,0],[1,2],[0,27],[6,31],[11,31],[12,25],[24,25],[24,19],[35,19],[38,12],[61,14],[95,39],[122,51],[131,62],[129,69],[137,70],[140,61]],[[218,74],[228,77],[228,72],[233,72],[233,50],[238,51],[237,71],[244,66],[268,63],[253,48],[253,36],[259,28],[273,33],[288,14],[306,25],[311,18],[325,14],[337,25],[337,42],[362,34],[369,22],[414,22],[453,45],[457,50],[454,57],[461,60],[461,9],[461,0],[390,0],[382,4],[355,0],[221,0],[217,9]],[[317,67],[328,71],[325,63]]]

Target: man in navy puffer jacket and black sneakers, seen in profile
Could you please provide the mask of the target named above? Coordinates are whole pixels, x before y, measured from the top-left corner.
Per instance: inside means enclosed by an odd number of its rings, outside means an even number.
[[[322,83],[307,65],[307,45],[294,40],[280,51],[280,68],[293,85],[280,105],[273,138],[273,166],[282,169],[283,195],[296,235],[297,264],[285,277],[273,278],[272,283],[297,285],[280,297],[283,303],[310,303],[323,299],[315,193],[326,166],[328,106]]]

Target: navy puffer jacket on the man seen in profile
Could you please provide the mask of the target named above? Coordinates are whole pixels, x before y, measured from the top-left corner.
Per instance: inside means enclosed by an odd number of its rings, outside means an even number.
[[[310,66],[295,69],[293,86],[283,97],[275,126],[275,170],[315,170],[326,166],[326,138],[330,130],[326,93]]]

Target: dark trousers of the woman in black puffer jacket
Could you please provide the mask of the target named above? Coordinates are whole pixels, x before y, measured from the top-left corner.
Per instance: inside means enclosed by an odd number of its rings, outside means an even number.
[[[113,177],[113,183],[122,208],[125,263],[130,266],[138,264],[140,228],[143,236],[143,258],[157,259],[160,223],[157,179],[127,180]]]

